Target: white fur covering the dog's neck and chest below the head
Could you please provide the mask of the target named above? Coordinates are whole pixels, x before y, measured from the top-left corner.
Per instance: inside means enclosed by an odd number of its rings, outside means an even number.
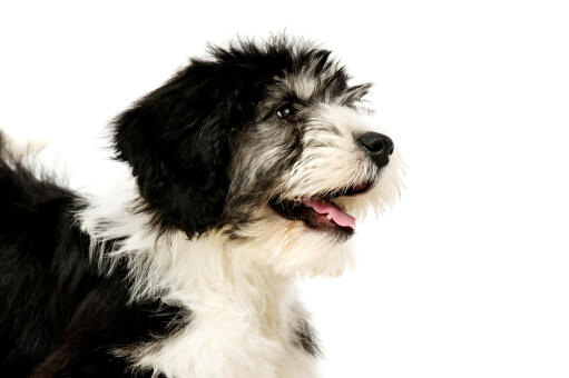
[[[244,247],[222,232],[192,241],[182,232],[157,239],[149,219],[128,210],[134,182],[121,187],[119,195],[90,198],[78,213],[82,229],[98,241],[94,258],[101,269],[126,259],[133,300],[161,296],[190,309],[192,321],[174,337],[116,355],[168,377],[316,376],[314,358],[292,342],[297,322],[306,319],[294,278],[239,258]],[[126,239],[111,255],[96,255],[97,246],[119,237]]]

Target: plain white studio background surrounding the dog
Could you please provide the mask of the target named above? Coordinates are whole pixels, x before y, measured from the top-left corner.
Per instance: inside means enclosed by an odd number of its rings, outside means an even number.
[[[335,51],[409,166],[359,267],[305,284],[325,377],[569,377],[569,12],[563,1],[0,6],[0,128],[80,140],[205,43]]]

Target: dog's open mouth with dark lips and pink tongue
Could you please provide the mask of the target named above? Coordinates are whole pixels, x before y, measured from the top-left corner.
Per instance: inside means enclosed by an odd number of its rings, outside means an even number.
[[[361,195],[371,188],[371,182],[335,189],[326,195],[316,195],[301,200],[271,200],[271,207],[283,218],[302,220],[307,227],[320,231],[350,237],[355,230],[355,218],[334,202],[340,197]]]

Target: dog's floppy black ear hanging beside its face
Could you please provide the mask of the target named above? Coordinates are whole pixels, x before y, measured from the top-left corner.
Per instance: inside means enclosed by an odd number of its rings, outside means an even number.
[[[237,73],[228,64],[193,60],[114,123],[117,158],[131,166],[143,210],[163,231],[177,228],[192,238],[219,221],[229,133],[253,108]]]

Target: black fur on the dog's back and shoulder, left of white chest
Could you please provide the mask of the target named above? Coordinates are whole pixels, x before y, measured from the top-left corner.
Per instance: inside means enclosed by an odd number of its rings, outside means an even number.
[[[171,334],[184,311],[129,305],[122,267],[97,273],[68,190],[0,161],[0,377],[134,377],[109,349]]]

